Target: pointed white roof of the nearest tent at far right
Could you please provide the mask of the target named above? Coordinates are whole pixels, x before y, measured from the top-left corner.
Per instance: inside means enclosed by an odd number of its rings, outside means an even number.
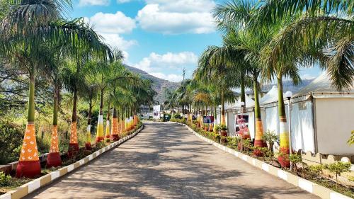
[[[296,101],[306,100],[308,96],[313,96],[314,98],[328,98],[328,97],[354,97],[354,82],[352,87],[347,91],[337,91],[333,86],[331,86],[331,80],[326,72],[323,72],[319,77],[314,79],[309,85],[305,86],[297,93],[292,96],[292,99],[303,97],[302,99],[297,99]]]

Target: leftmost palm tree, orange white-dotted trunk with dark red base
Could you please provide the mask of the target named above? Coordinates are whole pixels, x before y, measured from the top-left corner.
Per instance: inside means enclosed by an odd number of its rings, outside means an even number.
[[[28,125],[23,141],[16,176],[34,177],[40,174],[38,149],[35,142],[35,74],[41,67],[40,49],[48,42],[67,45],[77,52],[77,44],[85,43],[95,50],[98,36],[82,20],[65,21],[61,13],[71,6],[70,1],[22,0],[11,1],[9,11],[1,20],[0,54],[23,66],[28,72],[30,86],[28,99]],[[28,144],[31,143],[31,144]],[[33,144],[32,144],[33,143]]]

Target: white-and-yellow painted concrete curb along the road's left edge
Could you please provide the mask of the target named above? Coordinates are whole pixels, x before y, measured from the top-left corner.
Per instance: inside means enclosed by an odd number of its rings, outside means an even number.
[[[109,144],[107,147],[103,147],[102,149],[99,149],[97,152],[93,152],[92,154],[89,154],[88,156],[84,157],[83,159],[76,161],[74,164],[70,164],[68,166],[64,166],[61,169],[58,169],[57,171],[52,171],[50,174],[47,174],[45,176],[42,176],[40,178],[36,178],[33,181],[30,181],[28,183],[25,183],[23,186],[19,186],[16,188],[14,191],[9,191],[5,193],[4,195],[0,195],[0,199],[18,199],[18,198],[23,198],[29,193],[32,193],[33,191],[36,191],[38,188],[41,188],[43,186],[46,186],[48,183],[51,183],[52,181],[55,181],[65,174],[69,174],[70,172],[74,171],[75,169],[79,168],[80,166],[87,164],[89,161],[92,161],[96,157],[99,157],[101,154],[108,152],[110,149],[113,149],[120,144],[126,142],[127,140],[130,140],[132,137],[135,137],[142,129],[144,128],[144,125],[140,127],[138,130],[136,130],[132,135],[128,135],[124,137],[123,139],[113,142],[112,144]]]

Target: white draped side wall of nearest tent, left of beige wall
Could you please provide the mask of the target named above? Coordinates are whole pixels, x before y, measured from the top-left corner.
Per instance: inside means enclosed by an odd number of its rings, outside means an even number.
[[[315,153],[312,101],[292,103],[291,138],[292,148]]]

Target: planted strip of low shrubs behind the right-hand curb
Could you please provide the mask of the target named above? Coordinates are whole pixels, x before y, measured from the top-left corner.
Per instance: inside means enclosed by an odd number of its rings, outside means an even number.
[[[210,130],[205,130],[204,127],[199,127],[200,125],[198,125],[198,121],[196,120],[193,120],[193,122],[186,120],[174,120],[174,122],[188,125],[195,132],[198,132],[198,134],[207,137],[214,142],[234,149],[237,152],[247,154],[253,158],[259,159],[278,168],[282,168],[285,171],[291,172],[292,174],[305,178],[321,186],[330,188],[333,191],[354,198],[354,186],[350,185],[354,183],[354,178],[349,177],[348,184],[344,184],[338,181],[338,176],[341,176],[341,174],[345,172],[353,172],[350,171],[350,163],[336,161],[332,164],[308,166],[302,161],[301,154],[298,154],[297,152],[294,152],[290,155],[282,154],[281,152],[273,152],[273,145],[275,142],[278,142],[279,137],[274,132],[270,131],[263,133],[263,140],[266,142],[267,147],[254,147],[251,139],[228,137],[227,127],[224,125],[217,126],[216,132],[210,132]],[[282,156],[287,161],[290,161],[290,168],[282,167],[278,161],[278,156]]]

